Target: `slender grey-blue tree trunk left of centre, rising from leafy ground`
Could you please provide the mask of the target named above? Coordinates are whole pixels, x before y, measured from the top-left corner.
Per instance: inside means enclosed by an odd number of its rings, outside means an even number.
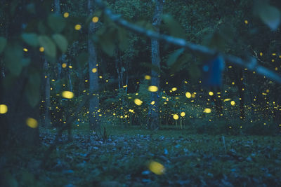
[[[93,1],[88,0],[88,13],[89,15],[93,14]],[[89,50],[89,84],[90,92],[94,92],[93,97],[89,103],[89,125],[91,130],[99,132],[100,125],[98,121],[98,107],[99,107],[99,98],[98,98],[98,71],[93,73],[92,69],[97,68],[97,56],[96,48],[91,40],[91,35],[95,32],[95,23],[91,22],[89,25],[89,35],[88,35],[88,50]]]

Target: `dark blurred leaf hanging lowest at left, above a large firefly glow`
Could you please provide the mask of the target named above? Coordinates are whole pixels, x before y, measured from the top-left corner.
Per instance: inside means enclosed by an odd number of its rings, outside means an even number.
[[[35,69],[29,72],[29,78],[25,87],[25,95],[30,106],[37,106],[40,100],[40,74]]]

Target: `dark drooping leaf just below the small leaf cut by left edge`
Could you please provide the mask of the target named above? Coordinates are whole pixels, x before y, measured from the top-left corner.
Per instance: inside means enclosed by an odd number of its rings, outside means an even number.
[[[18,45],[8,46],[5,50],[4,62],[11,74],[19,76],[22,71],[22,48]]]

